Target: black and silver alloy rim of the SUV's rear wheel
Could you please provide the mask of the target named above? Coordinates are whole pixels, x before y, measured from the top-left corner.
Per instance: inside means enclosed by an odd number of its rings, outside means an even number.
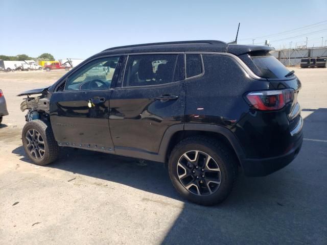
[[[196,195],[211,195],[221,184],[219,165],[202,151],[184,153],[177,163],[177,175],[185,189]]]

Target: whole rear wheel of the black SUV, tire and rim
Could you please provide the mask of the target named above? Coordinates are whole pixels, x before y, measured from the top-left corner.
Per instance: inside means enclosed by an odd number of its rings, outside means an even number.
[[[201,205],[215,205],[231,192],[237,162],[226,146],[206,137],[179,142],[169,159],[169,176],[183,198]]]

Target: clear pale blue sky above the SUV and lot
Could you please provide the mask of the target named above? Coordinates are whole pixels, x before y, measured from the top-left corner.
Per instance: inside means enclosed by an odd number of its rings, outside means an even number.
[[[0,54],[87,58],[145,42],[217,39],[275,48],[327,40],[327,1],[15,1],[0,0]],[[305,29],[289,31],[325,21]],[[310,33],[310,34],[308,34]],[[308,34],[308,35],[305,35]],[[303,36],[305,35],[305,36]],[[289,37],[299,36],[287,39]],[[283,40],[280,40],[283,39]]]

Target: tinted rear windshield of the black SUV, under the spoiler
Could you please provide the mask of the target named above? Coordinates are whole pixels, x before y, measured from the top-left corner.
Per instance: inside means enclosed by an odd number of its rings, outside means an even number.
[[[255,69],[253,72],[263,78],[285,78],[290,72],[281,62],[267,52],[250,53],[247,58],[243,59],[245,63],[252,61],[252,64],[248,64],[251,67],[253,65]]]

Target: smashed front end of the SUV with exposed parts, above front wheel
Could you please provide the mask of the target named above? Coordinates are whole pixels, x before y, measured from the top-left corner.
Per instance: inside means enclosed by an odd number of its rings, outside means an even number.
[[[50,108],[49,102],[51,94],[48,88],[33,89],[29,91],[22,92],[17,96],[24,96],[24,101],[20,104],[20,110],[22,112],[28,110],[25,115],[26,121],[31,121],[35,119],[41,119],[43,121],[49,121]],[[35,95],[35,96],[31,96]]]

